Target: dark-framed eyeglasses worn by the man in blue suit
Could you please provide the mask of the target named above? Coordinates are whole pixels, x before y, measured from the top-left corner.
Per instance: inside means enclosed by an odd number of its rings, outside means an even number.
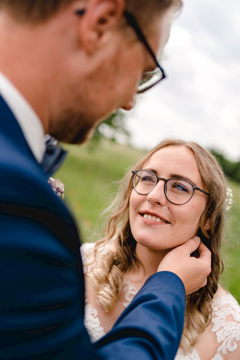
[[[84,13],[85,13],[85,9],[76,11],[76,14],[80,15],[80,16],[82,16]],[[144,93],[145,91],[149,90],[154,85],[158,84],[158,82],[163,80],[166,77],[166,75],[163,71],[163,68],[158,63],[158,60],[156,59],[148,42],[146,41],[144,35],[142,34],[140,27],[136,23],[136,20],[134,19],[134,17],[127,11],[125,11],[123,13],[123,16],[126,18],[128,25],[131,26],[135,30],[137,36],[139,37],[139,40],[146,46],[146,48],[148,49],[151,57],[153,58],[156,66],[157,66],[157,68],[154,71],[144,73],[144,76],[140,80],[139,85],[137,87],[137,93],[141,94],[141,93]]]

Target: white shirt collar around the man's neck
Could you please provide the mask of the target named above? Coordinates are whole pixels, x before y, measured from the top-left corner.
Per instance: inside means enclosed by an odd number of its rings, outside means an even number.
[[[42,123],[23,95],[12,82],[0,72],[0,94],[14,114],[24,138],[38,163],[42,162],[46,151]]]

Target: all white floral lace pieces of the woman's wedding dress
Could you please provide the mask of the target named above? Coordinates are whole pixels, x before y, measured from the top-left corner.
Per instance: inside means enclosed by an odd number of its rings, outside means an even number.
[[[85,243],[81,246],[84,273],[86,273],[86,271],[90,271],[91,267],[97,265],[97,262],[91,266],[85,265],[87,262],[91,261],[91,256],[88,256],[86,259],[86,255],[89,253],[89,251],[91,253],[93,246],[94,244],[89,243]],[[106,253],[105,249],[101,253]],[[126,302],[123,303],[123,306],[127,307],[132,301],[133,297],[136,295],[137,290],[126,281],[124,282],[123,291],[125,292],[126,299]],[[97,310],[92,308],[91,305],[86,304],[85,326],[92,342],[97,341],[105,335],[104,329],[101,327],[97,316]],[[211,360],[230,360],[230,354],[236,350],[240,340],[240,306],[231,294],[226,294],[220,297],[216,296],[214,298],[212,321],[205,331],[216,333],[217,353],[214,355],[214,357],[212,357]],[[217,348],[218,344],[219,346]],[[196,348],[198,346],[204,346],[204,344],[201,345],[201,340],[199,341]],[[179,348],[175,356],[175,360],[209,360],[209,357],[200,359],[196,348],[194,348],[189,354],[184,354],[184,352]]]

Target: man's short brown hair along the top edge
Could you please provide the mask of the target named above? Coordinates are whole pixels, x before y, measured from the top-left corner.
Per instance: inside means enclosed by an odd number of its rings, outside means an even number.
[[[0,10],[6,10],[9,14],[19,22],[44,22],[59,10],[73,3],[74,0],[0,0]],[[137,15],[137,18],[144,18],[149,13],[154,14],[176,6],[181,8],[181,0],[125,0],[126,9]],[[151,17],[149,19],[151,21]]]

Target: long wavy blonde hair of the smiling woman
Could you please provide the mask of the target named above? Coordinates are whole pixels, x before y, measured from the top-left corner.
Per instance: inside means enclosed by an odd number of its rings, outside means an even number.
[[[185,351],[189,351],[196,345],[199,335],[210,323],[212,300],[218,288],[219,275],[223,270],[220,246],[225,221],[227,180],[216,158],[208,150],[193,141],[175,139],[163,140],[131,170],[144,168],[155,152],[172,145],[183,146],[193,152],[203,184],[210,193],[200,218],[200,228],[203,234],[211,239],[212,271],[208,276],[207,285],[187,299],[185,325],[180,345]],[[96,291],[97,302],[106,312],[112,311],[119,297],[122,296],[124,275],[142,266],[135,253],[136,241],[132,237],[129,222],[129,198],[133,189],[131,170],[123,178],[117,198],[111,206],[114,210],[105,222],[105,236],[96,243],[94,253],[96,255],[99,249],[112,239],[115,239],[116,250],[103,255],[100,265],[94,267],[87,275],[87,279]],[[204,229],[206,222],[209,226],[207,231]]]

